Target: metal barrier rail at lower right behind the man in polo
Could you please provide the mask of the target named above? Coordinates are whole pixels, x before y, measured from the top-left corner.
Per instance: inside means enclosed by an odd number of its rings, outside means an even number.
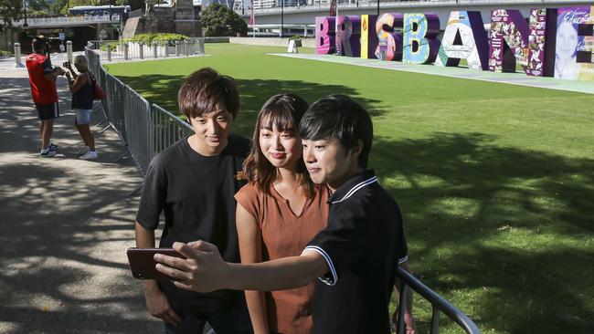
[[[424,297],[431,303],[431,334],[440,332],[440,313],[451,318],[468,334],[481,333],[481,330],[479,330],[471,318],[468,318],[468,316],[462,313],[461,310],[451,305],[449,301],[438,295],[437,292],[431,290],[430,287],[423,284],[417,277],[410,275],[401,267],[398,267],[397,277],[400,279],[401,283],[398,296],[398,321],[396,325],[398,334],[404,333],[404,313],[407,308],[408,288],[412,288],[421,297]]]

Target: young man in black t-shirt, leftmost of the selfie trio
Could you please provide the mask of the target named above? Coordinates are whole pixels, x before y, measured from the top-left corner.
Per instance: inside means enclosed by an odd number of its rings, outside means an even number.
[[[136,215],[136,245],[154,247],[154,230],[164,212],[160,247],[208,240],[228,262],[239,262],[235,193],[245,184],[242,163],[249,140],[230,134],[239,111],[233,78],[211,68],[191,74],[178,93],[179,109],[195,134],[157,154],[145,176]],[[196,293],[170,281],[143,281],[149,312],[164,320],[166,333],[201,334],[206,321],[217,331],[249,333],[243,293]]]

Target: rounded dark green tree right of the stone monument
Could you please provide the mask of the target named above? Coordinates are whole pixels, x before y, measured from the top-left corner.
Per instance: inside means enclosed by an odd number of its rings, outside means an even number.
[[[211,4],[200,14],[204,36],[241,36],[248,34],[248,25],[226,5]]]

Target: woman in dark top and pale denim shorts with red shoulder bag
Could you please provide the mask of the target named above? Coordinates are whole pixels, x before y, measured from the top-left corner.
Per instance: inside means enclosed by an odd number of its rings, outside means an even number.
[[[77,74],[69,62],[63,64],[68,78],[68,87],[72,93],[72,109],[76,113],[74,125],[79,130],[80,137],[84,141],[84,146],[78,152],[82,160],[95,160],[98,158],[95,151],[95,138],[90,132],[90,113],[93,110],[93,78],[89,73],[89,61],[84,55],[74,57],[74,67],[77,68]]]

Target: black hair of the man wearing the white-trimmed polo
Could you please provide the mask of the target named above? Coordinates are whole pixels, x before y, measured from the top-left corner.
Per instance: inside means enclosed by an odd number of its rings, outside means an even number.
[[[309,141],[337,139],[347,151],[363,141],[358,162],[367,168],[373,124],[369,112],[353,99],[334,94],[313,102],[299,124],[299,134]]]

